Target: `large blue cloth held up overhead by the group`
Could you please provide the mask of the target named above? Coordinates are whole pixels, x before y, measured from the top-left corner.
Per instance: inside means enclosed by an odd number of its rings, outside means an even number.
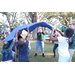
[[[27,31],[27,27],[29,26],[29,32],[33,31],[36,27],[40,26],[40,27],[47,27],[50,30],[52,30],[52,25],[46,23],[46,22],[40,22],[40,23],[31,23],[31,24],[25,24],[25,25],[21,25],[21,26],[17,26],[8,37],[6,37],[5,41],[10,41],[15,37],[16,31],[19,30],[19,33],[22,30],[26,30]]]

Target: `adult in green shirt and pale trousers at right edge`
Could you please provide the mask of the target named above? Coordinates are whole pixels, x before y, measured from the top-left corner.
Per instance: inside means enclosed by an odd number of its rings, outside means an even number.
[[[70,53],[69,62],[72,62],[72,57],[73,57],[73,54],[75,52],[75,22],[70,23],[70,28],[74,29],[73,44],[69,47],[69,53]]]

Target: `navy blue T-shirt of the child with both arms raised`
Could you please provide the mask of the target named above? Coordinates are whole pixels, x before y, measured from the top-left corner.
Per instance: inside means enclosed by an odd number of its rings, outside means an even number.
[[[18,46],[18,42],[16,42],[16,46],[19,50],[19,62],[28,62],[29,57],[28,57],[28,45],[29,41],[26,41],[23,47]]]

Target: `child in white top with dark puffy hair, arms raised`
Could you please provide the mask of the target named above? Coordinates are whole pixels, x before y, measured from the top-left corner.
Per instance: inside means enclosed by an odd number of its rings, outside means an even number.
[[[65,34],[63,34],[59,29],[56,29],[56,30],[60,32],[62,37],[54,38],[53,37],[54,28],[52,28],[50,40],[59,42],[58,43],[58,53],[59,53],[58,62],[68,62],[70,59],[70,54],[69,54],[68,48],[69,48],[69,43],[71,43],[70,38],[73,36],[74,30],[71,28],[68,28],[65,31]]]

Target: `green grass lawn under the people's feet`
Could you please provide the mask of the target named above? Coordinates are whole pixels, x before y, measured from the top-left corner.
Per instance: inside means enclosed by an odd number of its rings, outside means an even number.
[[[58,62],[58,49],[56,49],[56,57],[53,58],[53,46],[54,44],[45,43],[44,52],[45,57],[42,57],[41,49],[39,48],[38,55],[35,57],[35,49],[36,49],[36,41],[31,41],[31,51],[29,54],[29,62]],[[2,59],[1,54],[2,44],[0,44],[0,61]],[[72,59],[75,62],[75,54]],[[16,62],[18,62],[18,58],[16,58]]]

